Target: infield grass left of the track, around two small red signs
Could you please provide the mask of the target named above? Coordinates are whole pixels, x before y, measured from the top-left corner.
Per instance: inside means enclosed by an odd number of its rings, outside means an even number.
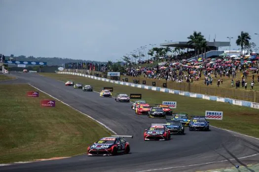
[[[111,133],[92,119],[56,101],[55,108],[40,107],[52,99],[29,85],[0,85],[0,163],[66,157],[86,152],[88,145]]]

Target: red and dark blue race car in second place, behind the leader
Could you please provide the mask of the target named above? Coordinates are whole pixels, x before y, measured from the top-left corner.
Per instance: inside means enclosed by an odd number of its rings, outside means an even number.
[[[165,141],[170,139],[170,131],[166,127],[166,124],[151,124],[151,126],[144,132],[144,141]]]

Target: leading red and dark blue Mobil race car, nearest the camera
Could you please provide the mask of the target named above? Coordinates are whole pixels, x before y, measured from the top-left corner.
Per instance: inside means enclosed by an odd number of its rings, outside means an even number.
[[[133,136],[111,136],[100,139],[87,148],[88,156],[110,156],[130,152],[130,144],[124,140],[125,137]]]

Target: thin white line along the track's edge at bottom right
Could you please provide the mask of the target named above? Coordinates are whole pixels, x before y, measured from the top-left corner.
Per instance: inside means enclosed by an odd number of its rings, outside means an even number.
[[[245,159],[245,158],[249,158],[249,157],[257,156],[257,155],[259,155],[259,153],[256,153],[256,154],[253,154],[253,155],[249,155],[249,156],[240,157],[238,159]],[[235,159],[222,160],[222,161],[213,161],[213,162],[201,163],[201,164],[191,164],[191,165],[186,165],[186,166],[167,167],[167,168],[161,168],[161,169],[150,169],[150,170],[143,170],[143,171],[136,171],[136,172],[152,172],[152,171],[158,171],[158,170],[169,170],[169,169],[192,167],[192,166],[202,166],[202,165],[208,165],[208,164],[214,164],[214,163],[222,163],[222,162],[233,161],[233,160],[235,160]]]

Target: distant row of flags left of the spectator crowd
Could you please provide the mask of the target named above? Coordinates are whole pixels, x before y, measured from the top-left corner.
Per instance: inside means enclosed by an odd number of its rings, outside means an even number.
[[[65,69],[86,69],[94,71],[103,71],[106,68],[106,64],[97,64],[90,62],[69,62],[64,63],[63,67]]]

